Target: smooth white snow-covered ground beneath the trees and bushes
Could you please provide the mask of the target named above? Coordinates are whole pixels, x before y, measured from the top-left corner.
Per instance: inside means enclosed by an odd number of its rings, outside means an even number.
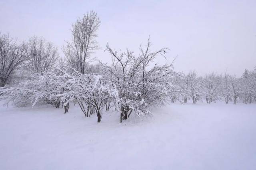
[[[172,104],[119,123],[0,106],[0,170],[255,170],[256,104]]]

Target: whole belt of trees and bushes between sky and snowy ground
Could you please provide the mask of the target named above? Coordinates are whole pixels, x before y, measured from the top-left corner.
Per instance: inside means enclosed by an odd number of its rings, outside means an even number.
[[[85,117],[96,114],[98,122],[102,110],[111,107],[119,111],[122,122],[131,114],[151,115],[151,107],[175,101],[256,101],[256,68],[245,70],[240,78],[174,72],[172,63],[156,64],[158,57],[165,58],[168,49],[151,51],[150,37],[138,55],[128,49],[116,51],[107,44],[112,62],[90,64],[98,49],[99,25],[96,12],[79,18],[72,25],[72,41],[67,41],[62,49],[65,59],[42,37],[32,37],[18,45],[9,35],[0,34],[0,99],[18,107],[64,107],[64,113],[74,104]],[[15,81],[17,77],[19,80]]]

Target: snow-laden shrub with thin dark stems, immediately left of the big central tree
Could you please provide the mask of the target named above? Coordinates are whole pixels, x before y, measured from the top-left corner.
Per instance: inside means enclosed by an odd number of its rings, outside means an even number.
[[[90,117],[95,112],[97,121],[100,122],[102,109],[107,100],[111,100],[108,84],[101,75],[82,74],[74,69],[67,71],[66,68],[59,69],[61,75],[58,76],[55,84],[60,93],[56,96],[61,98],[64,106],[76,101],[86,117]]]

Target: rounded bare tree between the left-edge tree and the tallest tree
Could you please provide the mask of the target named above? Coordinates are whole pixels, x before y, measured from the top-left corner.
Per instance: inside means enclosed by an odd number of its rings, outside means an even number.
[[[51,42],[46,42],[42,37],[32,37],[28,41],[28,65],[26,69],[32,73],[42,74],[51,71],[58,62],[58,50]]]

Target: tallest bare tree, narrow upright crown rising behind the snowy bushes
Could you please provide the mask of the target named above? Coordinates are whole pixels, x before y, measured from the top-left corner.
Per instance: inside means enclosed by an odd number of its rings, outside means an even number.
[[[92,53],[98,49],[95,38],[99,26],[96,12],[90,11],[82,19],[78,18],[72,25],[72,41],[63,48],[68,64],[82,74],[86,73],[86,61],[92,59]]]

